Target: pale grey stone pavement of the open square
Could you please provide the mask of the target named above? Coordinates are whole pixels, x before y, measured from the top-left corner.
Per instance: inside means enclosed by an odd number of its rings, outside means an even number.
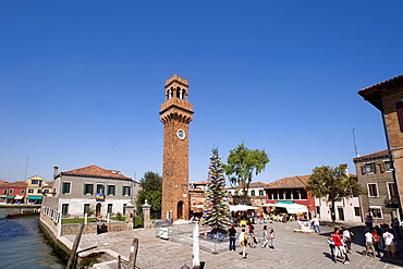
[[[296,222],[267,223],[269,229],[274,229],[277,250],[261,248],[247,248],[247,259],[242,259],[241,247],[236,252],[229,252],[228,244],[206,243],[200,240],[200,260],[205,262],[204,268],[401,268],[403,267],[403,240],[398,241],[396,262],[392,264],[387,256],[382,258],[365,257],[364,227],[361,223],[343,223],[355,233],[350,254],[350,265],[341,262],[333,264],[330,258],[330,249],[327,236],[332,231],[329,227],[321,227],[321,234],[294,233],[298,229]],[[255,224],[258,237],[261,239],[261,224]],[[138,253],[136,266],[142,269],[172,268],[179,269],[183,265],[192,268],[192,233],[191,225],[170,228],[172,241],[156,237],[156,230],[133,230],[124,232],[109,232],[103,234],[84,234],[78,250],[81,255],[90,252],[106,252],[112,257],[119,254],[127,259],[130,246],[134,237],[138,237]],[[203,231],[203,228],[200,229]],[[241,228],[236,228],[240,232]],[[178,233],[178,231],[184,231]],[[70,246],[73,245],[74,236],[62,236]],[[261,240],[260,240],[261,241]],[[239,242],[237,242],[239,243]],[[85,250],[87,249],[87,250]],[[218,254],[212,254],[213,250]],[[97,265],[96,268],[117,268],[115,262]]]

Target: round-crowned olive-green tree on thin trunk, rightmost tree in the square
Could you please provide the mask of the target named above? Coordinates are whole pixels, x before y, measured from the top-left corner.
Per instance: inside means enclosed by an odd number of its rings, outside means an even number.
[[[341,198],[365,194],[366,191],[358,184],[356,176],[346,173],[345,166],[331,168],[316,167],[309,176],[305,189],[317,198],[325,197],[331,203],[332,223],[335,221],[334,203]]]

